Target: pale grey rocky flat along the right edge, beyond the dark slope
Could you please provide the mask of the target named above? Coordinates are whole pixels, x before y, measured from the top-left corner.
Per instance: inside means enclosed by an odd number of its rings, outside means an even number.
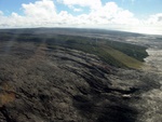
[[[159,87],[140,94],[141,99],[135,103],[140,108],[137,122],[161,122],[162,120],[162,40],[161,36],[145,36],[139,38],[130,38],[135,43],[148,45],[148,57],[145,58],[143,70],[152,76],[152,82],[159,82]]]

